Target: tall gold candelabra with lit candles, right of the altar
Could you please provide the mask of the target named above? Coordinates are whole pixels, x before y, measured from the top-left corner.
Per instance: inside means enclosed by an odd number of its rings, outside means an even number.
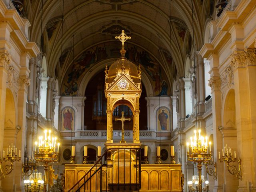
[[[202,164],[209,162],[212,159],[211,153],[211,142],[209,142],[209,152],[208,152],[208,142],[207,137],[201,136],[201,130],[198,132],[194,131],[194,141],[190,137],[191,144],[187,143],[188,146],[188,160],[194,163],[197,163],[198,168],[198,192],[202,192]],[[190,150],[189,150],[190,148]]]

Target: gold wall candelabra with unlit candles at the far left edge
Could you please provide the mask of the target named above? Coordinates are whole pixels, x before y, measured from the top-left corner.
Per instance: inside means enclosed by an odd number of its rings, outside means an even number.
[[[19,150],[19,157],[17,156],[17,148],[14,146],[10,146],[7,148],[7,154],[5,155],[5,151],[3,151],[3,156],[1,155],[0,157],[0,180],[4,179],[4,175],[8,175],[12,172],[13,170],[13,163],[15,161],[20,161],[20,150]],[[3,162],[10,162],[10,165],[4,165],[2,167]]]

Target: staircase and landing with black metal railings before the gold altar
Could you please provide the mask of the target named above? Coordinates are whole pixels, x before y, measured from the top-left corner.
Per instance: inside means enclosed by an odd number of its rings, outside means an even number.
[[[109,148],[68,192],[138,192],[140,172],[140,148]]]

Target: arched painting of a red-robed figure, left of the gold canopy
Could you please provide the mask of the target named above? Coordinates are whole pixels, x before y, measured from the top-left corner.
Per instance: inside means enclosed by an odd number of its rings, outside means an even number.
[[[71,107],[66,107],[62,110],[62,131],[74,130],[75,112]]]

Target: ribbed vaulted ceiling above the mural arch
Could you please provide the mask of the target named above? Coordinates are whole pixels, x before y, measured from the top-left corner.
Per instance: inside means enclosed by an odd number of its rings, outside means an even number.
[[[196,50],[204,43],[204,28],[212,5],[214,0],[193,0]],[[177,73],[184,76],[186,55],[191,52],[192,0],[27,0],[26,16],[31,24],[31,41],[40,45],[42,31],[47,75],[60,82],[72,65],[73,54],[77,58],[88,48],[116,41],[114,37],[122,29],[132,37],[130,44],[147,51],[156,60],[159,58],[170,84]],[[172,63],[158,57],[158,44],[160,50],[168,54],[172,51]],[[65,55],[63,66],[61,55]]]

